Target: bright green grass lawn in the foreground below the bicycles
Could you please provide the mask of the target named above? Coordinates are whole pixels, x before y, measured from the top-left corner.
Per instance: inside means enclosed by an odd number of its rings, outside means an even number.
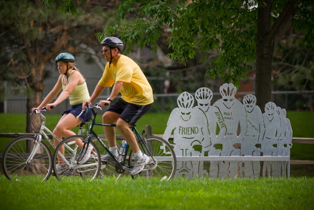
[[[0,182],[1,209],[314,209],[314,178]]]

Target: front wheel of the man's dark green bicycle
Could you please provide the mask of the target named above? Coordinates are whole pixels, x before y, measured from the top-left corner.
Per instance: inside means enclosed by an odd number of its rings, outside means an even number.
[[[73,179],[73,177],[83,177],[84,179],[95,179],[100,171],[100,152],[98,147],[91,141],[90,145],[94,147],[88,161],[83,164],[80,163],[81,156],[84,155],[85,150],[81,153],[81,148],[75,144],[76,139],[85,141],[85,135],[73,135],[63,139],[56,147],[53,153],[53,174],[59,180]],[[59,157],[59,161],[58,161]],[[59,166],[57,166],[57,164]]]

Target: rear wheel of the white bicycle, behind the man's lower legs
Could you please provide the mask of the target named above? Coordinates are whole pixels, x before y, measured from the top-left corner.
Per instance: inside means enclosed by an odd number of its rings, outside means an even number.
[[[100,135],[98,137],[106,145],[106,147],[109,148],[106,137],[103,135]],[[106,155],[108,153],[107,150],[105,150],[104,146],[98,141],[98,139],[96,139],[96,137],[92,138],[91,141],[93,141],[95,145],[98,147],[100,156]],[[117,150],[119,151],[120,146],[118,144],[116,146],[117,146]],[[111,163],[105,164],[104,162],[101,163],[100,173],[99,173],[98,178],[104,178],[104,177],[116,177],[117,178],[118,176],[119,176],[119,173],[117,172],[116,166],[114,164],[111,164]]]

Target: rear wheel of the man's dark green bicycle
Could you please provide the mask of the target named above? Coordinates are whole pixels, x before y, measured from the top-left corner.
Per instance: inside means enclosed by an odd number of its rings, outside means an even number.
[[[136,176],[154,178],[160,180],[170,180],[176,173],[176,154],[171,145],[160,137],[148,136],[146,138],[146,147],[143,143],[138,142],[143,153],[149,156],[150,161],[144,167],[143,171]],[[133,152],[129,156],[129,166],[134,166]]]

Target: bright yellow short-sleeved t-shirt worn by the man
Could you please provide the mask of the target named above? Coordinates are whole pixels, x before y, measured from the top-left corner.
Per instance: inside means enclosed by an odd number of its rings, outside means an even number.
[[[121,55],[114,66],[109,62],[105,67],[98,84],[111,87],[114,82],[124,82],[120,93],[122,99],[128,103],[148,105],[154,102],[153,90],[140,67],[129,57]]]

